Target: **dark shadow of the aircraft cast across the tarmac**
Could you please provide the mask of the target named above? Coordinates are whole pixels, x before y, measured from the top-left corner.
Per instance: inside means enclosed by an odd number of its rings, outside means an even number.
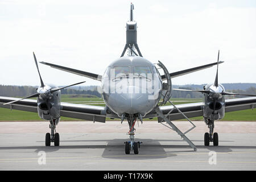
[[[184,144],[175,144],[175,142],[182,142],[182,140],[167,140],[167,139],[137,139],[137,141],[143,142],[141,144],[141,148],[139,148],[139,154],[134,155],[133,151],[131,151],[130,155],[125,154],[125,144],[126,139],[113,139],[113,140],[61,140],[60,146],[14,146],[14,147],[0,147],[1,150],[9,150],[9,152],[18,152],[15,150],[29,150],[35,149],[34,152],[45,151],[45,152],[55,152],[61,149],[104,149],[102,153],[102,158],[111,158],[111,159],[134,159],[139,158],[143,159],[154,159],[154,158],[167,158],[170,156],[176,156],[180,152],[195,152],[191,147],[188,146],[187,143]],[[200,145],[196,145],[199,152],[208,152],[208,151],[216,151],[216,152],[232,152],[234,148],[236,149],[256,149],[256,146],[204,146],[203,140],[196,140],[197,142],[202,142]],[[84,144],[80,145],[65,145],[65,142],[95,142],[94,144]],[[97,144],[97,142],[106,142],[106,144]],[[170,142],[170,144],[160,144],[160,142]],[[195,142],[195,141],[194,141]],[[220,142],[223,142],[220,140]],[[233,142],[233,141],[226,141]],[[40,144],[44,144],[43,141],[38,141]],[[205,149],[207,151],[205,151]],[[13,151],[11,151],[13,150]],[[20,152],[20,151],[19,151]],[[26,151],[23,151],[26,152]],[[27,151],[33,152],[33,151]],[[62,152],[71,152],[71,151],[62,151]],[[81,152],[80,151],[75,151]],[[81,152],[82,154],[83,152]]]

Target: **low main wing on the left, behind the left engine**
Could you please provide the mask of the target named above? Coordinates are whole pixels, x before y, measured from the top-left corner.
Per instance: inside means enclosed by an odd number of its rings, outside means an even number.
[[[17,101],[11,105],[3,105],[7,102],[15,101],[17,98],[13,97],[0,97],[0,107],[23,110],[37,113],[37,101],[31,99],[24,99]],[[82,104],[71,104],[61,102],[60,115],[62,117],[84,119],[88,121],[105,122],[106,121],[106,108],[102,106],[91,106]],[[114,115],[112,117],[115,117]]]

